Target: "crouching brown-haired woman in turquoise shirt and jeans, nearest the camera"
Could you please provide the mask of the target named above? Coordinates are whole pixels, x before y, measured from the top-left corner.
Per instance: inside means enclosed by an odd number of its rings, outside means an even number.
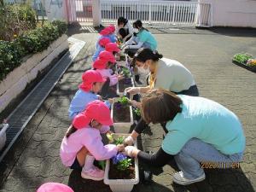
[[[229,168],[242,160],[245,136],[241,122],[217,102],[150,90],[143,97],[142,116],[147,123],[166,122],[168,132],[161,148],[147,154],[127,146],[125,153],[151,166],[165,166],[174,158],[181,170],[173,175],[175,183],[187,185],[205,179],[202,165],[206,163]]]

